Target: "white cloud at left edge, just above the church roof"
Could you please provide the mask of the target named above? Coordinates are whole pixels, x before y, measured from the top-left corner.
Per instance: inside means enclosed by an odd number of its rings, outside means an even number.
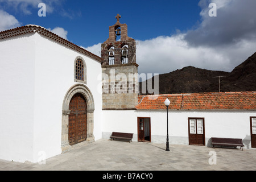
[[[5,31],[20,26],[19,21],[6,11],[0,10],[0,17],[0,31]]]

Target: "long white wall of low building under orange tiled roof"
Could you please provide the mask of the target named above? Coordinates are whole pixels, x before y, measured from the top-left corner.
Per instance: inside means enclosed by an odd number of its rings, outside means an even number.
[[[256,111],[168,111],[170,143],[188,144],[188,118],[205,119],[205,144],[211,137],[242,138],[246,148],[250,144],[250,117]],[[102,137],[109,139],[113,131],[134,133],[137,140],[137,117],[151,118],[151,142],[165,143],[167,135],[166,111],[104,111]]]

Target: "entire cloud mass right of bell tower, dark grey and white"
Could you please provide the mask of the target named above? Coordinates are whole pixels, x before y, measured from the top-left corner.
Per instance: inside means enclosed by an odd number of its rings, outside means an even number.
[[[217,17],[209,16],[216,3]],[[168,73],[186,66],[231,72],[256,51],[255,0],[201,0],[195,30],[140,41],[138,71]]]

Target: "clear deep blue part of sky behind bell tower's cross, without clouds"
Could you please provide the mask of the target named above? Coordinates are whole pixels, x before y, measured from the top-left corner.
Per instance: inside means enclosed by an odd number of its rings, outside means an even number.
[[[29,1],[20,2],[19,5],[8,5],[6,2],[1,3],[2,9],[15,16],[20,25],[38,24],[51,29],[63,27],[68,31],[68,40],[84,47],[108,39],[108,27],[115,24],[117,14],[122,16],[120,22],[129,26],[129,36],[139,40],[171,35],[176,29],[188,30],[200,19],[198,2],[191,0],[66,0],[56,1],[52,5],[46,2],[46,17],[39,17],[40,8],[32,3],[22,7],[22,3],[26,5]],[[48,12],[48,6],[54,9]],[[30,13],[24,13],[23,9]]]

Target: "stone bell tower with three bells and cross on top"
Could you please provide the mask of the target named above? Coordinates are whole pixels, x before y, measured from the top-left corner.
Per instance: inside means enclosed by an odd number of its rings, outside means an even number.
[[[129,110],[138,104],[136,42],[127,35],[127,24],[109,27],[109,38],[101,44],[102,109]]]

